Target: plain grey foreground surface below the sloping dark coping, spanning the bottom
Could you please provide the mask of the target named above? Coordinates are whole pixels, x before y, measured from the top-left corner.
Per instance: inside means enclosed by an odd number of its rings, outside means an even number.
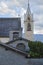
[[[43,59],[26,59],[20,54],[0,47],[0,65],[43,65]]]

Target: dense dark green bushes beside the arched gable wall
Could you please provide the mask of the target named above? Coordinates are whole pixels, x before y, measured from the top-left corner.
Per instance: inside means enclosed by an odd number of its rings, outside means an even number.
[[[43,43],[29,41],[28,46],[30,47],[31,57],[43,57]]]

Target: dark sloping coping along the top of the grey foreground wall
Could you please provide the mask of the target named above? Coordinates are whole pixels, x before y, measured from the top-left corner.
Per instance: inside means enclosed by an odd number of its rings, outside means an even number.
[[[20,51],[20,50],[18,50],[18,49],[16,49],[16,48],[13,48],[13,47],[11,47],[11,46],[9,46],[9,45],[6,45],[6,44],[0,44],[0,46],[4,47],[4,48],[7,49],[7,50],[11,50],[11,51],[14,51],[14,52],[16,52],[16,53],[19,53],[19,54],[21,54],[21,55],[23,55],[23,56],[28,56],[28,55],[29,55],[29,54],[26,53],[26,52]]]

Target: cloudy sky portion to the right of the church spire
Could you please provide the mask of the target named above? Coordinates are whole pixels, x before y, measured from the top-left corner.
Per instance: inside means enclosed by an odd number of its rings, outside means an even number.
[[[30,0],[34,19],[34,33],[43,34],[43,0]]]

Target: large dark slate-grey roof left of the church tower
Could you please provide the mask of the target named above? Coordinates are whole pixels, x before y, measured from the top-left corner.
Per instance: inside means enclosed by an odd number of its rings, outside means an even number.
[[[0,37],[8,37],[9,31],[18,31],[20,29],[20,18],[0,18]]]

